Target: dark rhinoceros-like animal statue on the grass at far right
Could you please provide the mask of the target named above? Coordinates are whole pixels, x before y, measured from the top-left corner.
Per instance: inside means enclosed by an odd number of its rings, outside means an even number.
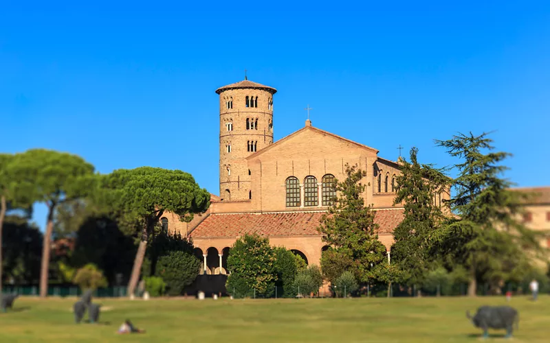
[[[510,338],[514,324],[518,329],[520,320],[518,311],[509,306],[482,306],[477,309],[473,317],[470,316],[470,311],[466,311],[466,317],[475,327],[483,329],[484,338],[489,335],[488,329],[506,329],[506,337]]]

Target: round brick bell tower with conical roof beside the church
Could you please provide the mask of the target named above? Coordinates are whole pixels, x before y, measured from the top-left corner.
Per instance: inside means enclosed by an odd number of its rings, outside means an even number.
[[[249,200],[246,157],[273,143],[275,88],[245,80],[219,94],[219,195],[223,201]]]

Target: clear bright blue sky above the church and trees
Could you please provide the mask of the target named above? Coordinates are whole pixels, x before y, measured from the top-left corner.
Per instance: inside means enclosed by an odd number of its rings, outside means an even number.
[[[307,104],[394,161],[400,144],[443,167],[433,139],[495,131],[510,180],[550,185],[550,1],[80,2],[2,1],[0,152],[181,169],[217,194],[214,90],[248,69],[278,89],[276,140]]]

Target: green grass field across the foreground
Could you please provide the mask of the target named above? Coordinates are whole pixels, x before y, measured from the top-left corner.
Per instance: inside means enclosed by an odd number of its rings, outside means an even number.
[[[0,314],[0,342],[477,342],[465,318],[504,297],[285,300],[126,300],[102,304],[100,324],[74,324],[75,298],[19,298]],[[550,341],[550,296],[511,300],[520,311],[514,342]],[[87,316],[85,317],[87,318]],[[117,335],[126,318],[144,334]],[[492,331],[489,342],[504,341]]]

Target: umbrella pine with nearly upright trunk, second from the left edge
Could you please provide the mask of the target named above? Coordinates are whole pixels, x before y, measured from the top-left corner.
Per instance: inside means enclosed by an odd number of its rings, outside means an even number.
[[[54,214],[60,204],[87,196],[92,188],[94,166],[76,155],[34,149],[14,156],[10,174],[23,180],[18,185],[18,193],[27,195],[32,202],[43,202],[48,209],[40,277],[40,296],[44,297],[47,295]]]

